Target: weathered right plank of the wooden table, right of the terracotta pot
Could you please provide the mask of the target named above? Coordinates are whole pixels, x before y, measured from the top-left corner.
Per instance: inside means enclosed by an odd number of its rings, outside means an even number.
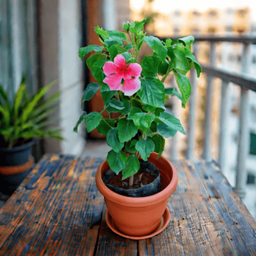
[[[175,162],[168,227],[139,241],[140,255],[256,255],[256,222],[215,162]]]

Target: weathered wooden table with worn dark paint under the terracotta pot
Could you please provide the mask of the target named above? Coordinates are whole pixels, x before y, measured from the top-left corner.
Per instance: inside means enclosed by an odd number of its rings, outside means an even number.
[[[101,158],[45,155],[0,211],[0,255],[256,255],[256,222],[215,162],[173,162],[179,185],[160,234],[130,240],[105,223]]]

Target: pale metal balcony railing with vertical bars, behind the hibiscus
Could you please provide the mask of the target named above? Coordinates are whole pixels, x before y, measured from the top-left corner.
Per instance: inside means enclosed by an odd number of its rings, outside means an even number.
[[[212,122],[212,93],[213,79],[218,77],[222,80],[221,86],[221,113],[219,121],[219,150],[218,163],[221,169],[225,169],[227,160],[227,121],[229,116],[230,102],[230,82],[241,87],[240,94],[240,124],[238,138],[238,156],[236,165],[236,183],[234,191],[240,198],[245,196],[246,187],[246,158],[249,147],[249,95],[250,91],[256,91],[256,78],[249,74],[251,65],[250,48],[252,44],[256,44],[256,37],[196,37],[193,52],[198,53],[198,43],[208,41],[210,43],[210,63],[202,65],[202,72],[207,74],[207,95],[205,106],[204,120],[204,152],[202,157],[209,161],[212,160],[210,153],[211,143],[211,122]],[[243,44],[241,73],[235,71],[227,71],[216,66],[216,44],[219,42],[241,43]],[[192,93],[189,101],[190,116],[188,124],[188,144],[187,158],[194,157],[194,141],[195,141],[195,120],[196,120],[196,87],[197,78],[196,71],[193,69],[190,75]],[[194,89],[194,90],[193,90]]]

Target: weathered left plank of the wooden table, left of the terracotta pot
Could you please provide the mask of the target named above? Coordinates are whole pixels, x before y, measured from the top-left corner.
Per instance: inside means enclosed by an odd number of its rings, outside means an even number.
[[[44,157],[1,209],[0,255],[93,255],[104,202],[94,182],[101,161]]]

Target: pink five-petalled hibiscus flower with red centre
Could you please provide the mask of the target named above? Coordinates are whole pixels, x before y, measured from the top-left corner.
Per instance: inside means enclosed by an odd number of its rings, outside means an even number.
[[[123,91],[124,95],[131,96],[140,90],[141,66],[138,63],[126,64],[124,56],[116,55],[114,62],[106,62],[103,66],[103,72],[107,76],[103,80],[110,91]]]

